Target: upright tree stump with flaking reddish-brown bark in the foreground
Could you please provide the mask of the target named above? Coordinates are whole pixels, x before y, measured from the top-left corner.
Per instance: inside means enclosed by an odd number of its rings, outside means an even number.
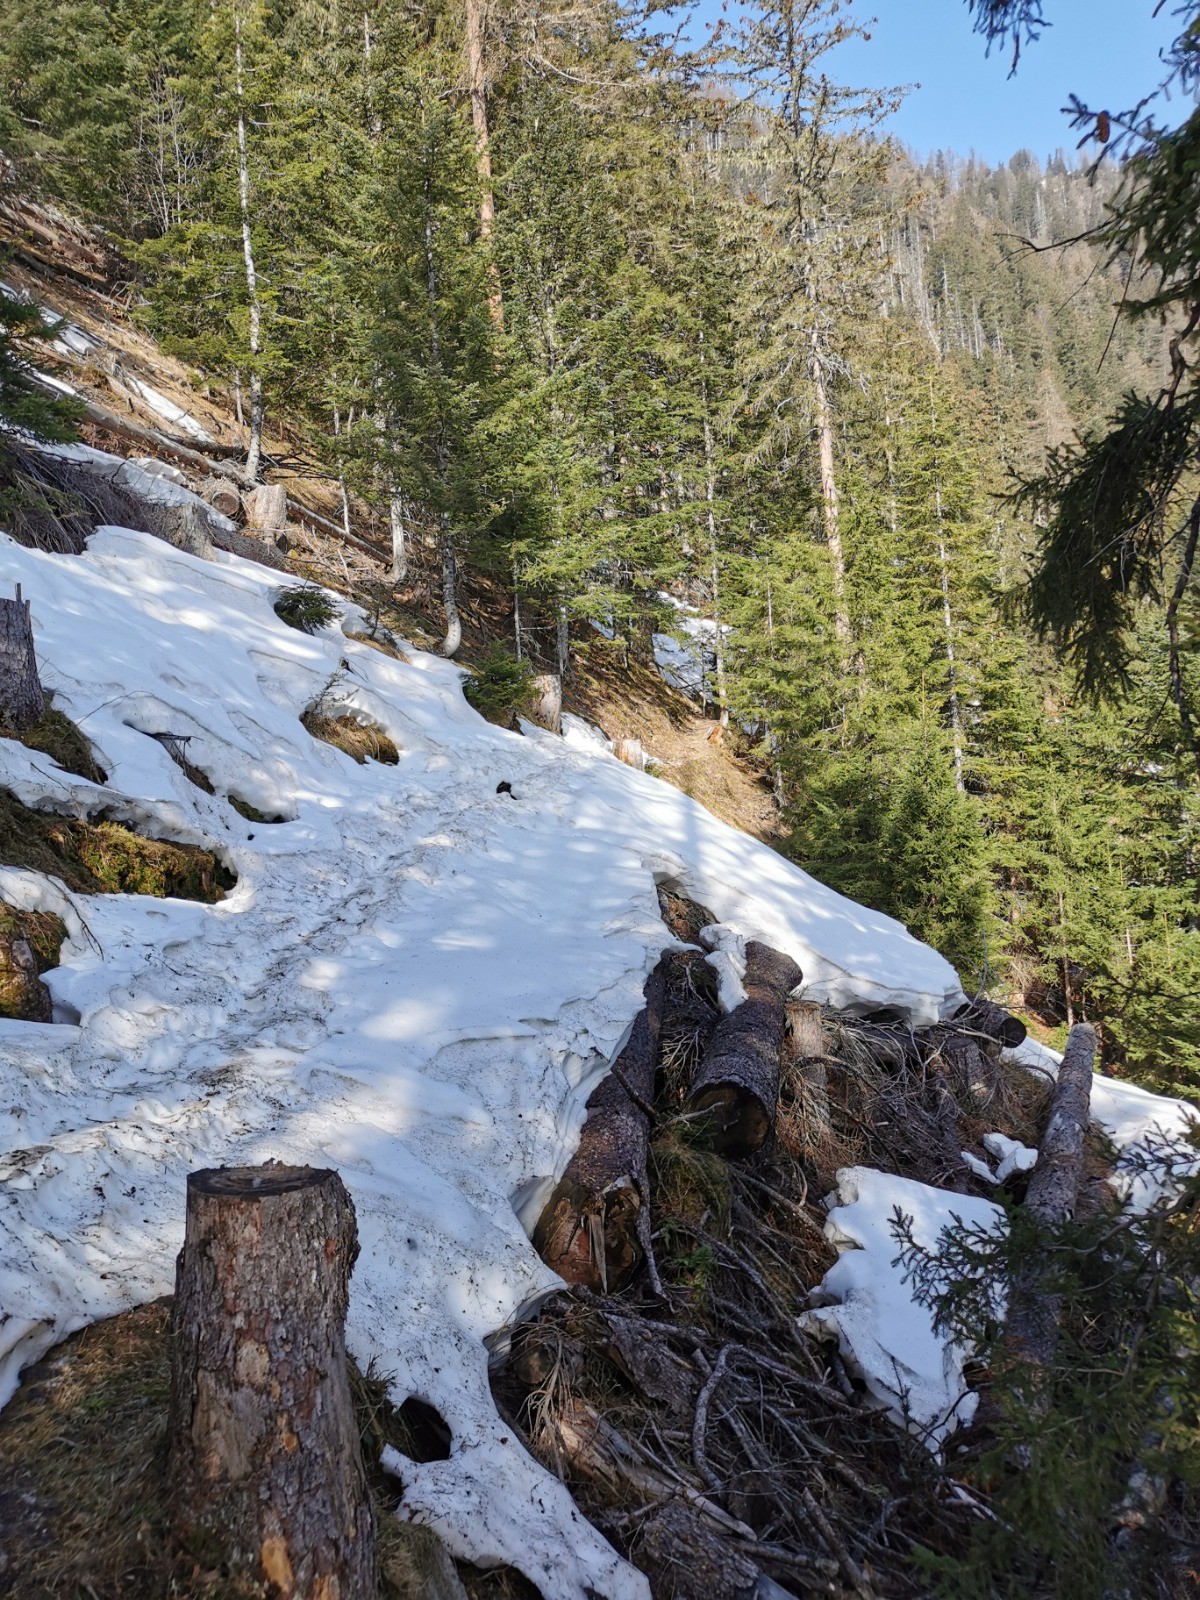
[[[192,1173],[176,1267],[174,1533],[278,1600],[374,1600],[374,1520],[346,1368],[358,1253],[334,1171]]]

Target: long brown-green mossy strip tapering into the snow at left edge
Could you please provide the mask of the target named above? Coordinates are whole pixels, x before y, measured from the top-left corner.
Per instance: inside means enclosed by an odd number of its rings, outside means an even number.
[[[0,862],[62,878],[80,894],[155,894],[213,904],[237,878],[195,845],[142,838],[120,822],[30,811],[0,789]]]

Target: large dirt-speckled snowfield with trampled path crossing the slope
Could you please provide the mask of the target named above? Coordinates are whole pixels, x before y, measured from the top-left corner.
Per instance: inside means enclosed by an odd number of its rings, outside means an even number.
[[[675,942],[656,883],[712,910],[718,949],[762,938],[837,1006],[928,1022],[962,1002],[954,971],[598,746],[485,723],[450,662],[286,627],[261,566],[115,528],[83,557],[0,534],[14,581],[43,682],[110,776],[0,739],[0,784],[216,850],[238,882],[198,906],[3,869],[0,894],[58,909],[69,938],[46,979],[62,1021],[0,1022],[0,1402],[72,1330],[171,1290],[189,1170],[333,1165],[362,1235],[350,1349],[453,1432],[448,1461],[392,1458],[402,1515],[547,1600],[645,1600],[501,1424],[483,1341],[558,1282],[518,1210],[528,1226],[566,1165]],[[400,765],[314,741],[317,701],[382,726]],[[246,822],[230,794],[285,821]]]

